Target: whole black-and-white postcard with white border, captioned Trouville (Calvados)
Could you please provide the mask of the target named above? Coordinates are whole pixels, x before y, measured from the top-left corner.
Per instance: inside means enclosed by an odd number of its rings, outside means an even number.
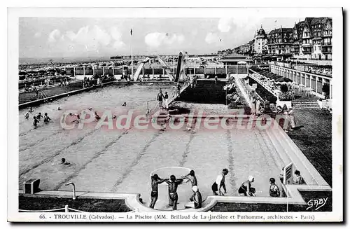
[[[342,8],[9,8],[8,221],[343,221],[342,38]]]

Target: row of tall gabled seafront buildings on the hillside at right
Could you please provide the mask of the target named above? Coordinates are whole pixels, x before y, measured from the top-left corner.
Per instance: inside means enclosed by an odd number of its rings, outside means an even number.
[[[235,53],[277,60],[332,60],[332,18],[305,18],[293,28],[280,27],[269,33],[261,27]]]

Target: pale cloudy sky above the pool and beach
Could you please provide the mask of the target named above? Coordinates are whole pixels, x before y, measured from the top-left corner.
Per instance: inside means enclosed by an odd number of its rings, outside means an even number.
[[[20,18],[20,58],[216,53],[304,18]],[[130,30],[132,29],[132,36]]]

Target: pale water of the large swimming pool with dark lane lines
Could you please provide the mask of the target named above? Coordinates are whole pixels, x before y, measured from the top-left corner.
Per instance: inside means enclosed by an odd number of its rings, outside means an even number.
[[[20,111],[20,179],[41,179],[42,190],[71,190],[64,184],[75,183],[78,191],[140,193],[146,205],[150,202],[150,174],[162,167],[194,169],[203,199],[212,195],[211,184],[223,168],[227,195],[237,190],[249,175],[255,176],[253,187],[257,196],[269,195],[269,178],[279,183],[283,167],[278,154],[263,130],[105,130],[89,125],[82,130],[62,130],[59,119],[66,109],[92,107],[97,113],[112,109],[123,113],[127,109],[145,112],[147,101],[155,99],[158,90],[171,94],[173,85],[111,85],[102,90],[84,92],[58,99],[34,108],[31,116],[47,112],[52,123],[39,123],[34,129],[32,117],[25,119]],[[127,102],[127,106],[121,106]],[[62,111],[58,111],[57,107]],[[157,106],[157,102],[150,102]],[[66,158],[70,165],[60,164]],[[183,174],[185,175],[185,174]],[[179,207],[192,194],[190,183],[179,186]],[[167,206],[167,186],[160,186],[156,209]]]

